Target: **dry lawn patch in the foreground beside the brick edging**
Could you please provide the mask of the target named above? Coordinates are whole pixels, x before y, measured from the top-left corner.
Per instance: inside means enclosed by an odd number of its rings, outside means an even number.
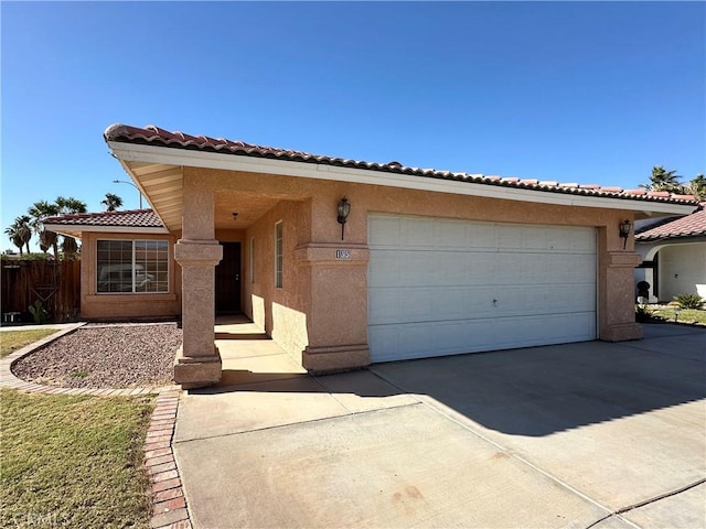
[[[153,398],[0,390],[0,527],[148,528]]]

